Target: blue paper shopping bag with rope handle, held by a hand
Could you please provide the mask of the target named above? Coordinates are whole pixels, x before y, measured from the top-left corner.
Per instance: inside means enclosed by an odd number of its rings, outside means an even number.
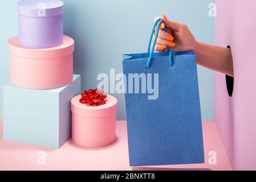
[[[153,53],[155,44],[123,56],[130,165],[204,163],[196,55]]]

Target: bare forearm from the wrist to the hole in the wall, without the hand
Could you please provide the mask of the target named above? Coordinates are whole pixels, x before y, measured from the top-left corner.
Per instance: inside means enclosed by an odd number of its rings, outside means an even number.
[[[231,49],[196,42],[194,51],[197,64],[214,71],[234,76]]]

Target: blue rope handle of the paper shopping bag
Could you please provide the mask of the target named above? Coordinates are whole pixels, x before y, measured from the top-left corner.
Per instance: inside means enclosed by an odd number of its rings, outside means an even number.
[[[159,19],[156,20],[156,22],[153,25],[153,29],[152,29],[151,36],[150,36],[149,43],[148,43],[148,53],[150,53],[150,55],[149,55],[148,62],[147,62],[147,65],[146,65],[147,68],[149,68],[150,64],[151,64],[153,52],[154,52],[154,49],[155,49],[155,46],[156,46],[157,37],[159,35],[160,25],[161,25],[162,22],[164,22],[164,20],[159,18]],[[154,32],[155,32],[156,26],[157,26],[156,38],[155,38],[155,40],[153,42],[152,49],[151,49],[151,43],[152,43],[152,39],[153,39],[153,35],[154,35]],[[164,28],[164,30],[167,32],[166,28]],[[170,47],[170,48],[168,47],[167,51],[170,52],[169,53],[169,64],[172,67],[173,66],[173,59],[172,59],[173,48],[172,47]]]

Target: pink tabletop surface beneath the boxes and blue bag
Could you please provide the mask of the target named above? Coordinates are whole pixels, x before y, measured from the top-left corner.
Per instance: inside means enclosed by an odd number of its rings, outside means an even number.
[[[127,128],[125,121],[116,125],[116,142],[102,148],[84,148],[68,140],[59,150],[11,142],[2,139],[0,119],[0,170],[231,170],[216,124],[202,122],[205,164],[129,167]],[[45,164],[38,163],[45,154]],[[217,164],[210,165],[209,152],[217,154]]]

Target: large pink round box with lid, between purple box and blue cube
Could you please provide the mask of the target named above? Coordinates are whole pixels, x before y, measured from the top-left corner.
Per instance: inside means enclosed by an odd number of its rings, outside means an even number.
[[[10,81],[29,89],[54,89],[72,82],[74,40],[63,36],[63,44],[46,49],[29,49],[18,36],[8,42]]]

